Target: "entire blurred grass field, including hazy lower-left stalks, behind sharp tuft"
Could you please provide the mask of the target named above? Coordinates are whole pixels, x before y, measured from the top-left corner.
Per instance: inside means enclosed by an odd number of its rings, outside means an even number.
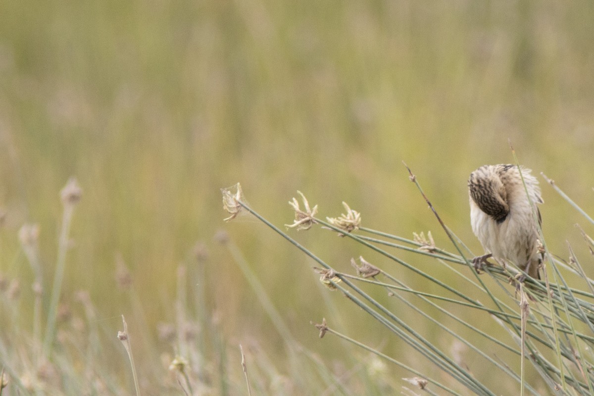
[[[346,201],[365,227],[409,239],[431,230],[453,251],[405,161],[482,254],[466,179],[513,162],[511,142],[521,163],[594,213],[593,33],[587,1],[1,2],[0,394],[133,394],[121,315],[143,395],[248,394],[239,344],[255,394],[399,394],[410,374],[320,340],[310,321],[323,317],[444,376],[260,221],[223,222],[220,189],[241,182],[279,227],[299,190],[320,218]],[[81,199],[61,241],[71,177]],[[589,235],[592,225],[540,180],[549,251],[568,259],[568,240],[592,276],[574,224]],[[362,254],[387,265],[335,232],[286,233],[344,271]],[[402,257],[462,287],[432,259]],[[418,325],[439,342],[434,325]],[[170,370],[176,356],[189,363]],[[473,373],[497,394],[517,391],[488,367]],[[536,372],[529,379],[546,389]]]

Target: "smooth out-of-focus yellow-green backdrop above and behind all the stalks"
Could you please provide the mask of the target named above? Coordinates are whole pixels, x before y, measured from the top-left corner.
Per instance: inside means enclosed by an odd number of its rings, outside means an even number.
[[[146,324],[143,337],[156,340],[157,324],[173,321],[176,268],[205,265],[204,304],[222,334],[257,340],[282,361],[282,336],[213,242],[225,229],[295,338],[326,362],[344,352],[309,325],[331,315],[324,299],[345,331],[395,353],[397,341],[328,296],[292,246],[248,217],[224,224],[219,189],[241,182],[279,226],[292,221],[286,202],[299,189],[321,216],[346,201],[365,226],[433,230],[447,245],[404,160],[445,223],[481,253],[466,179],[513,161],[509,139],[523,164],[592,213],[593,34],[588,1],[1,2],[0,270],[29,284],[11,252],[20,226],[34,222],[52,276],[58,193],[75,176],[84,196],[64,299],[88,290],[114,334],[124,313],[130,331]],[[548,246],[567,256],[580,218],[543,189]],[[361,254],[334,233],[296,237],[339,268]],[[116,287],[118,256],[142,313]]]

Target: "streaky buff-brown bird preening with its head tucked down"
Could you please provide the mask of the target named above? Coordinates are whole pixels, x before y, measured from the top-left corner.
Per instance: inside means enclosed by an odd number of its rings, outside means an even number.
[[[534,205],[543,201],[538,180],[530,174],[530,169],[504,164],[481,166],[470,173],[468,191],[472,231],[487,252],[473,259],[475,267],[479,268],[492,256],[500,264],[512,262],[530,277],[540,279],[541,213],[536,208],[535,217],[530,201]]]

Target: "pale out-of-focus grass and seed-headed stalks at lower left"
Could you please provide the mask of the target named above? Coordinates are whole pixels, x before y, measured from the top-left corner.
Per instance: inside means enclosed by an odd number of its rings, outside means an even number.
[[[312,394],[320,389],[329,389],[330,393],[334,393],[333,389],[343,389],[344,394],[356,394],[355,390],[346,391],[342,380],[327,368],[320,356],[292,337],[283,315],[225,233],[220,233],[217,241],[228,248],[257,293],[258,305],[268,313],[285,341],[288,374],[284,372],[285,365],[278,364],[276,355],[269,356],[259,346],[266,340],[246,337],[238,353],[239,344],[230,342],[222,333],[220,318],[205,314],[211,296],[201,273],[204,252],[196,252],[196,261],[178,267],[177,294],[170,302],[174,312],[172,321],[160,323],[156,328],[138,320],[146,304],[152,302],[138,298],[134,276],[122,258],[118,258],[115,282],[130,300],[134,325],[129,326],[122,315],[124,328],[116,331],[118,325],[111,320],[116,318],[100,319],[97,306],[85,290],[75,292],[72,302],[61,287],[61,277],[69,264],[72,238],[77,238],[69,235],[68,230],[80,199],[81,189],[71,180],[62,190],[64,228],[56,248],[59,254],[51,293],[44,292],[42,286],[52,282],[38,267],[38,245],[43,237],[39,227],[27,225],[19,232],[22,251],[36,274],[33,287],[23,290],[18,278],[9,279],[0,273],[0,394],[183,393],[189,396],[252,394],[252,389],[254,394]],[[24,258],[17,254],[19,259]],[[28,321],[25,315],[29,310],[23,309],[23,303],[31,297],[33,320]],[[154,332],[158,340],[150,336]],[[147,346],[146,340],[153,344]],[[151,350],[158,350],[160,356],[154,356]],[[137,363],[135,355],[144,356],[144,360]],[[365,373],[364,367],[357,370]]]

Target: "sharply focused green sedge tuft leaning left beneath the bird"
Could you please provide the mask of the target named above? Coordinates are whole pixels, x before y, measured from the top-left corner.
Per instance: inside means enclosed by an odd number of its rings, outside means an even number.
[[[323,261],[314,252],[290,237],[287,232],[274,226],[266,218],[250,207],[243,199],[241,186],[233,191],[223,190],[226,205],[233,209],[230,213],[247,211],[253,214],[301,252],[314,259],[321,268],[320,281],[330,290],[339,290],[352,303],[369,315],[370,321],[382,324],[388,332],[402,340],[416,351],[426,362],[432,363],[445,374],[421,372],[426,366],[416,360],[418,368],[406,365],[396,356],[389,356],[365,345],[353,337],[342,334],[331,327],[326,319],[315,327],[320,337],[333,334],[355,346],[376,354],[414,375],[416,380],[403,381],[417,384],[428,394],[467,394],[498,395],[502,392],[517,394],[541,394],[542,387],[548,387],[552,394],[593,394],[594,383],[594,287],[586,276],[573,249],[570,247],[570,262],[554,258],[546,251],[546,243],[541,233],[547,261],[544,265],[544,280],[527,277],[513,265],[501,267],[488,263],[485,275],[479,275],[469,257],[474,255],[462,241],[447,227],[441,216],[425,195],[418,178],[409,170],[410,180],[419,189],[438,223],[453,245],[454,251],[437,246],[431,233],[413,233],[413,239],[394,236],[389,233],[362,226],[364,215],[352,210],[343,202],[346,214],[327,217],[327,221],[317,217],[318,206],[310,205],[304,194],[299,192],[302,207],[293,198],[290,205],[295,211],[295,220],[287,224],[287,229],[309,230],[328,229],[339,233],[345,239],[358,243],[361,250],[370,249],[383,256],[373,263],[360,257],[361,264],[350,259],[355,274],[338,271],[339,265]],[[558,189],[558,188],[556,188]],[[558,190],[560,191],[560,190]],[[562,196],[565,195],[560,192]],[[571,205],[576,204],[568,200]],[[577,208],[580,213],[581,211]],[[585,213],[586,218],[590,219]],[[584,240],[592,251],[592,238],[582,232]],[[337,241],[337,244],[344,243]],[[436,264],[452,274],[448,280],[422,270],[415,261],[405,261],[397,251],[416,254],[418,259],[435,260]],[[425,278],[426,287],[415,288],[402,281],[402,272],[394,276],[393,264]],[[586,289],[571,287],[565,279],[567,274],[575,274],[584,280]],[[456,284],[456,286],[452,286]],[[383,289],[388,297],[399,300],[399,309],[378,299],[375,289]],[[429,292],[431,290],[431,292]],[[482,295],[482,297],[481,297]],[[478,297],[477,297],[478,296]],[[484,301],[484,302],[482,302]],[[406,306],[407,316],[401,312]],[[435,312],[440,312],[437,318]],[[489,316],[479,316],[487,313]],[[441,318],[451,319],[447,324]],[[490,317],[492,326],[485,328],[484,321]],[[481,318],[476,321],[476,318]],[[422,320],[419,320],[422,319]],[[423,331],[427,323],[438,328],[443,337],[439,342],[432,340]],[[497,329],[504,328],[509,337],[501,337]],[[484,377],[474,373],[465,359],[453,356],[443,347],[444,340],[465,346],[468,359],[482,361],[484,373],[497,376],[497,385],[486,385]],[[494,356],[493,350],[500,351]],[[552,359],[551,359],[552,358]],[[529,368],[530,375],[528,374]],[[536,376],[535,376],[536,375]],[[540,377],[540,381],[537,378]],[[515,384],[515,385],[514,385]],[[410,386],[410,385],[407,385]],[[403,389],[405,385],[402,385]],[[515,389],[515,390],[514,390]]]

